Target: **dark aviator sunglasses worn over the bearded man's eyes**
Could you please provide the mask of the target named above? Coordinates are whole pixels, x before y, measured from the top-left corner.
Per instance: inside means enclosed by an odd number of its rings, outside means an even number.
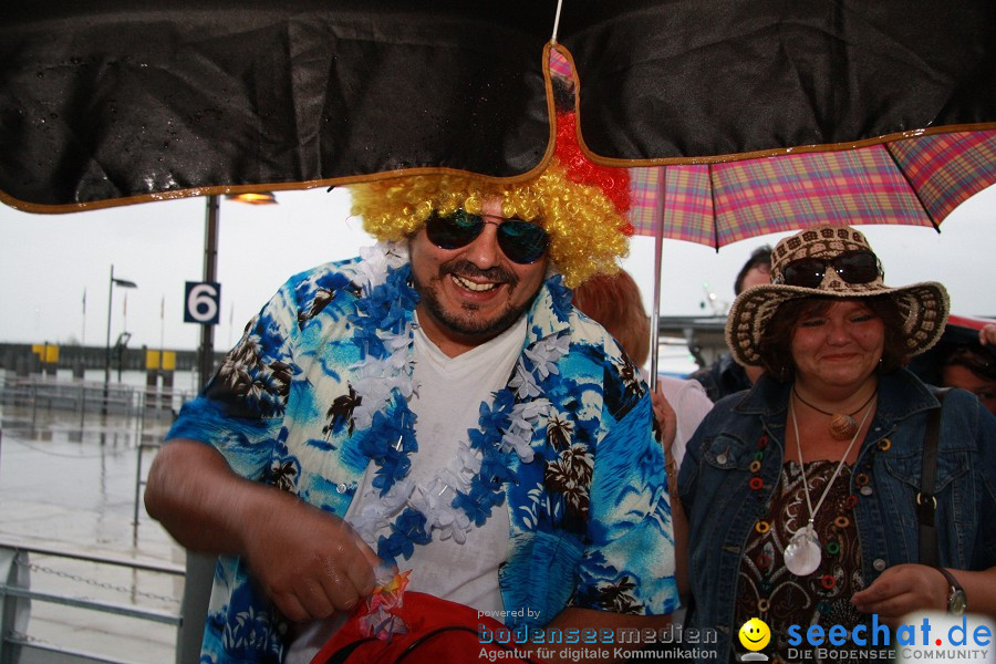
[[[425,234],[429,241],[440,249],[466,247],[484,230],[485,221],[478,215],[458,209],[445,217],[436,211],[425,222]],[[538,261],[550,246],[550,236],[541,226],[521,219],[506,219],[498,226],[498,246],[515,263],[529,264]]]

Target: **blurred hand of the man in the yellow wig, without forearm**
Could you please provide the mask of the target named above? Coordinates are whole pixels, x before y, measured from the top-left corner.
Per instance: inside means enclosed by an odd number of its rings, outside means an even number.
[[[247,527],[245,551],[283,615],[321,620],[370,595],[376,553],[335,516],[300,500],[282,502]]]

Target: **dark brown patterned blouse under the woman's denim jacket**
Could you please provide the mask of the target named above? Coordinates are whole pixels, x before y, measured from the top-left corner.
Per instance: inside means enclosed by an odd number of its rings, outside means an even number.
[[[816,507],[833,475],[838,461],[806,464],[809,499]],[[820,567],[807,577],[797,577],[785,567],[785,547],[795,532],[809,521],[799,464],[787,461],[770,509],[758,521],[740,562],[737,606],[734,624],[759,618],[771,630],[771,646],[780,661],[788,661],[788,627],[811,624],[829,629],[841,624],[853,627],[863,614],[851,604],[851,595],[864,588],[861,550],[849,495],[851,467],[844,465],[813,520],[820,539]]]

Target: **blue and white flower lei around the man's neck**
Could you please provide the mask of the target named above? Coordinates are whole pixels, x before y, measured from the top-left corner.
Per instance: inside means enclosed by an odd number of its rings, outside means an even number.
[[[505,501],[504,483],[513,479],[515,456],[532,460],[532,430],[550,412],[541,398],[537,376],[558,373],[557,362],[568,352],[567,334],[541,339],[520,355],[515,374],[504,390],[481,402],[478,427],[467,430],[454,459],[425,485],[407,479],[409,455],[418,450],[415,413],[408,400],[415,392],[412,381],[413,323],[418,295],[408,283],[407,249],[397,242],[381,242],[361,253],[354,282],[363,288],[356,313],[350,315],[361,361],[354,365],[352,387],[360,397],[353,411],[362,437],[361,452],[377,466],[373,486],[381,500],[360,509],[353,528],[366,541],[390,526],[391,535],[377,538],[377,556],[394,562],[411,558],[415,544],[442,540],[466,541],[471,527],[480,527],[491,509]],[[559,286],[559,284],[558,284]],[[554,299],[569,291],[552,288]],[[566,309],[567,301],[556,302]],[[385,413],[393,405],[393,416]]]

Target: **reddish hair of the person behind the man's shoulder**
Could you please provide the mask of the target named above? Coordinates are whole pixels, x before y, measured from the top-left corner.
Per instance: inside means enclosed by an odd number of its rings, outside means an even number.
[[[596,274],[574,289],[574,307],[602,324],[636,366],[650,356],[650,319],[630,273]]]

